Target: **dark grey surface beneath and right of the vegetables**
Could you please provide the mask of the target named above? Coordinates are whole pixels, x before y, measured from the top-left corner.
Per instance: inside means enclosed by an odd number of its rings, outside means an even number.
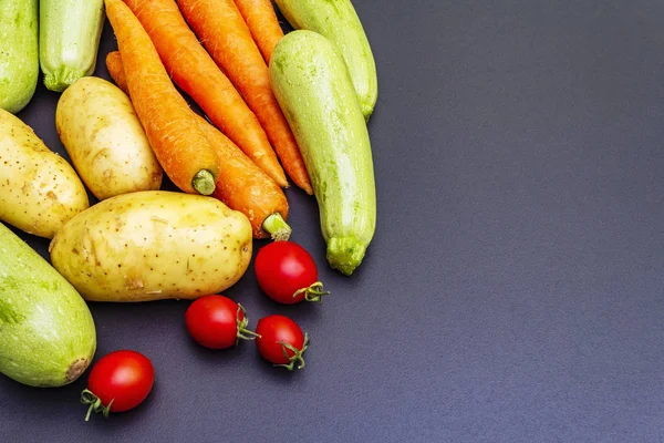
[[[277,306],[252,269],[226,291],[251,327],[300,321],[307,368],[194,346],[187,302],[93,303],[97,357],[152,358],[146,403],[85,423],[86,377],[1,378],[0,441],[664,441],[664,3],[354,3],[380,80],[369,255],[329,270],[291,189],[292,238],[334,296]],[[62,153],[56,100],[40,87],[20,116]]]

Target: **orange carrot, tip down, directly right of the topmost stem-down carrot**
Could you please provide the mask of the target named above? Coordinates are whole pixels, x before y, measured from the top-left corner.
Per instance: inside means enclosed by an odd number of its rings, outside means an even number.
[[[258,119],[198,42],[173,0],[124,0],[152,39],[166,71],[240,150],[280,186],[288,181]]]

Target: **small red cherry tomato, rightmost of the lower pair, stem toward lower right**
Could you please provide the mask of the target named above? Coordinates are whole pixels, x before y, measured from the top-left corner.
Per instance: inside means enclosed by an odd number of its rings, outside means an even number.
[[[286,316],[268,316],[256,326],[258,352],[277,367],[289,370],[304,368],[302,354],[309,347],[309,337]]]

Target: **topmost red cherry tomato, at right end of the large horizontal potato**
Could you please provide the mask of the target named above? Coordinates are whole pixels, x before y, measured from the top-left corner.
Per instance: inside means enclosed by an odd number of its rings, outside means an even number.
[[[258,286],[272,300],[292,305],[319,301],[323,284],[311,255],[292,241],[272,241],[258,250],[255,261]]]

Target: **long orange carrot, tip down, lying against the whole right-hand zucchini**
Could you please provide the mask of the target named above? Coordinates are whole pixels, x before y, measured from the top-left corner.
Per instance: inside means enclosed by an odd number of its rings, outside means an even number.
[[[258,117],[287,174],[312,195],[302,154],[272,93],[268,65],[238,8],[232,0],[178,0],[177,3],[212,60]]]

